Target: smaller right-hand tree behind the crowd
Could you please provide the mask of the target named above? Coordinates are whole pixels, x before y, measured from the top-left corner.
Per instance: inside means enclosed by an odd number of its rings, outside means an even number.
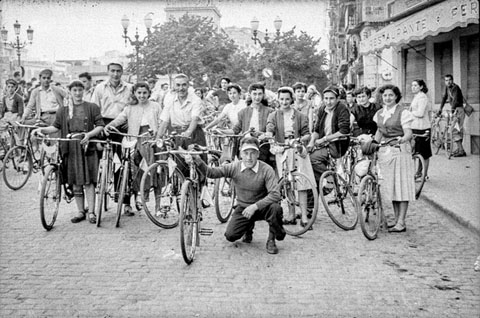
[[[297,81],[327,85],[327,76],[322,66],[327,66],[327,52],[317,52],[315,40],[306,32],[295,34],[295,28],[281,34],[269,43],[263,43],[263,52],[255,57],[256,72],[270,67],[274,72],[273,86],[293,85]]]

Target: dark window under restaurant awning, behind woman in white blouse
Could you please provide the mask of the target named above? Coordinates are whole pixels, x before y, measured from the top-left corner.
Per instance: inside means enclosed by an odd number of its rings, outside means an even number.
[[[416,79],[426,80],[427,61],[425,56],[425,45],[403,50],[405,83],[402,94],[405,103],[410,103],[413,99],[412,82]]]

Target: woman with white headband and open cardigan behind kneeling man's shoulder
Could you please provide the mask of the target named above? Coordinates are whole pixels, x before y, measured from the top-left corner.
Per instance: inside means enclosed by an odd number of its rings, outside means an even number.
[[[290,87],[281,87],[278,89],[278,102],[280,103],[280,108],[271,113],[268,116],[267,120],[267,133],[269,137],[275,136],[275,141],[284,143],[285,139],[288,137],[300,138],[303,143],[307,143],[310,140],[310,130],[308,129],[308,118],[306,115],[302,114],[295,108],[292,108],[294,100],[294,92]],[[312,164],[310,162],[310,157],[308,156],[307,149],[303,147],[301,152],[295,152],[294,149],[287,150],[288,155],[294,156],[295,166],[289,167],[290,169],[296,169],[296,171],[304,173],[312,182],[315,183],[315,176],[313,174]],[[283,148],[272,149],[272,152],[275,153],[275,159],[277,164],[278,175],[282,176],[282,157],[283,157]],[[308,223],[307,218],[307,190],[313,190],[308,187],[308,185],[299,184],[299,187],[304,186],[305,188],[298,189],[299,191],[299,200],[300,200],[300,209],[302,211],[301,215],[301,225],[305,226]],[[291,210],[295,214],[295,210]],[[284,224],[295,224],[296,215],[289,215],[288,218],[284,219]]]

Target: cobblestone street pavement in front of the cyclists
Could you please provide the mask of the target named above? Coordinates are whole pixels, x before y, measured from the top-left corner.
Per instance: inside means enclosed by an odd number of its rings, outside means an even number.
[[[265,252],[266,223],[251,244],[229,243],[209,209],[192,265],[178,228],[113,212],[102,228],[39,219],[36,182],[13,192],[0,181],[1,317],[479,317],[478,237],[420,200],[403,234],[365,239],[323,211],[314,230]],[[388,205],[388,204],[386,204]]]

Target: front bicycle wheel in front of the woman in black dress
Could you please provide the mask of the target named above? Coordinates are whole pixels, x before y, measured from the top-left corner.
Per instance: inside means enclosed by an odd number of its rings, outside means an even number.
[[[56,165],[45,169],[40,189],[40,220],[45,230],[50,231],[57,219],[58,208],[62,198],[60,172]]]

